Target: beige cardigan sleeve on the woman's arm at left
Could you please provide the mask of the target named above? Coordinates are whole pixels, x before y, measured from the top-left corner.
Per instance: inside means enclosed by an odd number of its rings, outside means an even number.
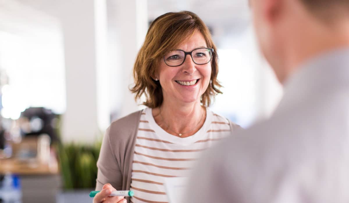
[[[122,173],[111,147],[110,128],[104,134],[97,161],[96,190],[102,190],[103,185],[106,183],[110,183],[117,190],[122,188]]]

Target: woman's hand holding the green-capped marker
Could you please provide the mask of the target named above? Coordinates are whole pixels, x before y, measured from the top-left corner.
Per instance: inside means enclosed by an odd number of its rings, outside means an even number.
[[[127,203],[124,196],[110,196],[111,192],[116,190],[109,183],[102,187],[101,192],[93,198],[93,203]]]

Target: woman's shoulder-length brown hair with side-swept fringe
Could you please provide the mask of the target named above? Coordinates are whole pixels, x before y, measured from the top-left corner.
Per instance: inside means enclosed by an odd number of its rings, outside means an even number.
[[[210,83],[201,96],[201,103],[204,106],[209,106],[215,95],[222,93],[219,90],[222,86],[217,81],[217,48],[213,43],[209,29],[196,14],[190,11],[181,11],[163,14],[150,24],[133,68],[135,85],[130,90],[132,93],[136,93],[136,100],[144,94],[146,101],[143,104],[145,106],[149,108],[161,106],[163,102],[161,85],[159,81],[154,80],[158,64],[166,52],[175,49],[196,30],[203,35],[207,46],[214,49],[211,59]]]

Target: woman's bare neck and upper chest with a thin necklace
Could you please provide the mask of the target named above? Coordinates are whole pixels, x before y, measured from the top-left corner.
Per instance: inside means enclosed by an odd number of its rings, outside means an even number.
[[[190,104],[176,104],[163,102],[153,109],[155,122],[166,132],[180,137],[195,134],[205,123],[206,109],[200,102]]]

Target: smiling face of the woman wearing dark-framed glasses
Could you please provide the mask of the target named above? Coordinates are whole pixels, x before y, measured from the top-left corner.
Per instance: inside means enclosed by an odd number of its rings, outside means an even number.
[[[205,38],[199,31],[186,38],[176,49],[190,52],[195,48],[207,47]],[[164,101],[180,103],[200,102],[211,77],[211,62],[195,64],[190,55],[186,55],[183,64],[177,67],[166,65],[162,59],[157,77],[162,87]]]

